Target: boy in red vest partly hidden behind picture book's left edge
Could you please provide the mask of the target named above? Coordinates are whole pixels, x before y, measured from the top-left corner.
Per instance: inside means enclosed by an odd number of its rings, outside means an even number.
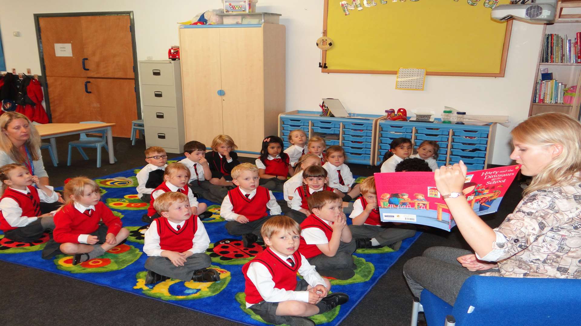
[[[406,160],[407,161],[407,160]],[[349,226],[357,248],[374,248],[388,246],[398,250],[401,240],[413,237],[415,230],[408,224],[394,225],[381,222],[375,193],[375,178],[370,176],[361,182],[361,197],[353,204],[349,215],[353,224]]]

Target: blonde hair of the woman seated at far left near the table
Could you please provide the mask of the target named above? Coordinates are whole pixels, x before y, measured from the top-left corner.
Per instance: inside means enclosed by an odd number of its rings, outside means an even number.
[[[42,110],[42,108],[41,108]],[[37,161],[40,157],[38,156],[38,151],[40,150],[40,135],[36,128],[34,128],[33,123],[26,117],[26,115],[17,113],[17,112],[5,112],[0,115],[0,128],[2,128],[2,132],[0,132],[0,150],[4,151],[6,154],[12,158],[17,163],[24,163],[26,162],[26,158],[20,153],[19,148],[16,148],[10,139],[6,135],[5,131],[8,128],[10,122],[16,119],[25,119],[30,126],[30,138],[24,143],[28,147],[28,151],[30,152],[30,156],[33,161]]]

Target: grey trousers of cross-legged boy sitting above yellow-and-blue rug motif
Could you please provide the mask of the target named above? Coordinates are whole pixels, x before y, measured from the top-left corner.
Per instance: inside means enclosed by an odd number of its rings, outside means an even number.
[[[194,253],[186,259],[184,266],[178,267],[165,257],[151,256],[145,260],[145,268],[163,276],[189,281],[194,271],[210,267],[210,263],[211,258],[205,253]]]

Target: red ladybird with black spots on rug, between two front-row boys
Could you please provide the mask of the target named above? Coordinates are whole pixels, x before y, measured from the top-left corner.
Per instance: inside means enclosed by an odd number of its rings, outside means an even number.
[[[245,248],[242,240],[228,238],[210,244],[210,247],[206,249],[206,253],[214,263],[243,265],[254,259],[264,249],[266,249],[264,242],[257,241],[250,248]]]

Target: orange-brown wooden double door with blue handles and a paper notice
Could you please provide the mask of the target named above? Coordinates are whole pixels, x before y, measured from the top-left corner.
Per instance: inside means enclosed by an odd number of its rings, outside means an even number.
[[[53,123],[103,121],[130,137],[137,119],[130,15],[38,17]]]

